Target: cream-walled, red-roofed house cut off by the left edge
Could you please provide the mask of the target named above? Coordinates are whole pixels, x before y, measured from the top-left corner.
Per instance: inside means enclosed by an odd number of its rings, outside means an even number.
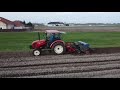
[[[14,23],[10,20],[0,17],[0,29],[13,29]]]

